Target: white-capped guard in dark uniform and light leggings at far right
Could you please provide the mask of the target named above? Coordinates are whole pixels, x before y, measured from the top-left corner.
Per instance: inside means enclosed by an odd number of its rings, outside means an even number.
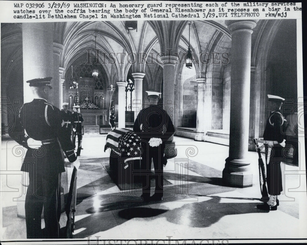
[[[263,141],[266,156],[266,183],[270,197],[268,202],[257,205],[262,210],[277,210],[279,201],[277,196],[282,192],[281,161],[285,161],[283,147],[285,146],[286,119],[280,112],[285,99],[279,96],[268,95],[268,110],[271,111],[266,121]]]

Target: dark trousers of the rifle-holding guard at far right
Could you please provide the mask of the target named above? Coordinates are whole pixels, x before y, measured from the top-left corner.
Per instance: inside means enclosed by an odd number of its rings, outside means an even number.
[[[265,144],[266,149],[266,183],[268,186],[268,193],[270,195],[280,195],[282,192],[282,170],[280,167],[281,161],[285,161],[282,150],[283,147],[279,144],[273,145],[270,153],[270,160],[268,160],[269,145]]]

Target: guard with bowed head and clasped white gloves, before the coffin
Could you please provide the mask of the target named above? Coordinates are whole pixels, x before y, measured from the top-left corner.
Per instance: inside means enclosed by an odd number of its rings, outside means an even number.
[[[141,138],[142,143],[142,195],[143,201],[161,200],[163,196],[163,163],[165,141],[175,132],[173,122],[163,110],[158,92],[146,91],[149,106],[138,114],[133,131]],[[151,160],[156,177],[155,193],[150,197]],[[145,173],[145,174],[144,174]]]

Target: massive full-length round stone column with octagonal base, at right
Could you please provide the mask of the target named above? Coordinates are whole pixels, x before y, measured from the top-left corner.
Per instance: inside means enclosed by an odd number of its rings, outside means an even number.
[[[252,186],[248,161],[248,133],[251,84],[251,34],[254,20],[227,20],[231,31],[231,96],[229,157],[223,169],[223,182],[234,187]]]

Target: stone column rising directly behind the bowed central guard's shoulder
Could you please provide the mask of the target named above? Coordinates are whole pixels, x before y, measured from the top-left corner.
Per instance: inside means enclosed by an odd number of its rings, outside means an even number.
[[[163,104],[164,109],[169,114],[170,118],[174,123],[175,118],[175,65],[177,62],[177,57],[168,55],[161,57],[163,62]]]

